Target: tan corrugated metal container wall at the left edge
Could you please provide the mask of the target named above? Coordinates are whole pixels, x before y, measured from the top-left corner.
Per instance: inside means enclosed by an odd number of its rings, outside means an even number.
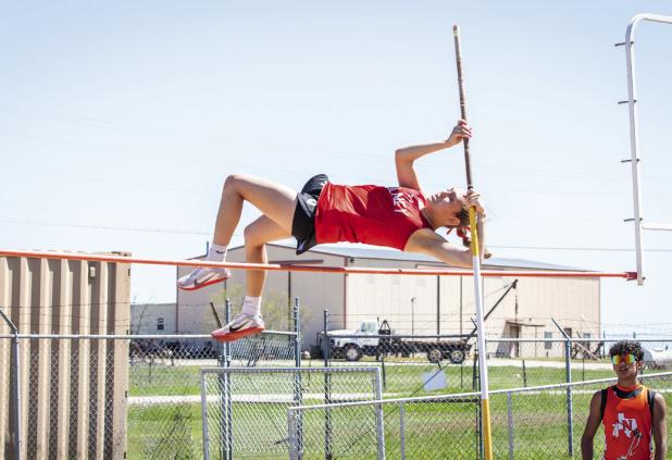
[[[127,264],[0,258],[0,308],[20,334],[128,334],[129,286]],[[0,334],[10,334],[3,321]],[[20,344],[18,460],[125,458],[127,340]],[[9,339],[0,339],[0,458],[16,459]]]

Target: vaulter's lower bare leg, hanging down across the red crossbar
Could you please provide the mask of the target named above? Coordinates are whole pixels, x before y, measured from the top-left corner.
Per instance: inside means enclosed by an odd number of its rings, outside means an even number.
[[[294,211],[293,211],[294,212]],[[289,238],[291,233],[269,216],[262,215],[245,227],[245,256],[247,262],[267,263],[266,243]],[[248,270],[246,296],[260,297],[266,279],[265,270]]]

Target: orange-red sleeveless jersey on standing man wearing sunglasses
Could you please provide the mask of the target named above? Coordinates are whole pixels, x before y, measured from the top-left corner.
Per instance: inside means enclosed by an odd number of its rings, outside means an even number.
[[[632,397],[621,398],[609,388],[605,406],[605,460],[650,460],[651,451],[651,412],[647,402],[647,388],[638,385],[634,388],[618,387]]]

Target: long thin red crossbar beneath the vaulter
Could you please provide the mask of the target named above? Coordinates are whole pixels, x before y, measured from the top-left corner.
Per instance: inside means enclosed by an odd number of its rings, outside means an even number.
[[[0,249],[0,257],[23,257],[33,259],[79,260],[87,262],[117,262],[141,265],[171,266],[210,266],[238,270],[266,270],[272,272],[319,272],[336,274],[379,274],[379,275],[438,275],[438,276],[473,276],[472,270],[453,269],[383,269],[364,266],[314,266],[284,263],[247,263],[247,262],[212,262],[202,260],[145,259],[125,256],[95,254],[82,252],[27,251],[17,249]],[[535,270],[483,270],[483,276],[501,277],[565,277],[565,278],[624,278],[635,279],[636,272],[544,272]]]

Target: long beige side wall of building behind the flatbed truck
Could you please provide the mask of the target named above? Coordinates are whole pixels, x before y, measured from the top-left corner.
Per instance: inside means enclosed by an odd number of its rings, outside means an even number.
[[[356,259],[350,266],[415,269],[441,266],[427,262]],[[471,276],[348,276],[348,328],[361,319],[388,320],[398,334],[469,334],[474,325],[475,306]],[[514,277],[485,277],[485,313],[500,299]],[[517,288],[501,300],[486,322],[490,337],[512,337],[518,326],[521,338],[561,338],[551,318],[572,333],[573,338],[599,335],[599,278],[519,277]],[[412,300],[414,299],[414,300]],[[517,301],[518,300],[518,301]],[[518,306],[518,308],[517,308]],[[414,321],[411,320],[414,311]],[[438,319],[438,321],[437,321]],[[578,334],[578,335],[577,335]]]

